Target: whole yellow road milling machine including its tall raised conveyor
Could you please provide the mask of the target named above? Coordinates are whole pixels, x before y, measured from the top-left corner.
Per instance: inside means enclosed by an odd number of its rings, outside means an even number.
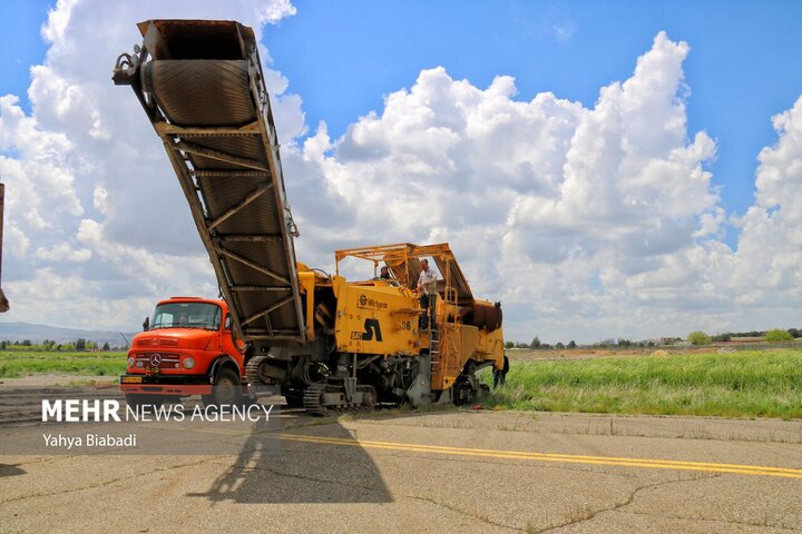
[[[134,89],[164,142],[245,342],[252,397],[312,414],[376,403],[466,404],[476,372],[502,365],[500,304],[473,297],[448,244],[338,250],[336,274],[295,259],[273,113],[253,30],[232,21],[149,20],[114,81]],[[350,281],[344,258],[390,278]],[[420,260],[440,271],[437,319],[421,325]],[[370,265],[369,264],[369,265]]]

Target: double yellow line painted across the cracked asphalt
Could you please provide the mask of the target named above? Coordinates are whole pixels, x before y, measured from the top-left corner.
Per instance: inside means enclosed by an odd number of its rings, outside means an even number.
[[[779,476],[802,478],[802,469],[769,467],[762,465],[715,464],[708,462],[684,462],[675,459],[627,458],[613,456],[584,456],[574,454],[531,453],[525,451],[498,451],[488,448],[447,447],[440,445],[418,445],[411,443],[372,442],[344,439],[338,437],[307,436],[302,434],[276,434],[275,437],[303,443],[355,446],[385,451],[407,451],[413,453],[444,454],[486,458],[528,459],[536,462],[559,462],[569,464],[594,464],[625,467],[645,467],[653,469],[701,471],[707,473],[734,473],[755,476]]]

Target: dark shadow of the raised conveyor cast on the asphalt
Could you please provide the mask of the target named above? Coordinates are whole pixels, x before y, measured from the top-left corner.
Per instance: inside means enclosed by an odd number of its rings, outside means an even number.
[[[311,419],[314,421],[314,419]],[[288,433],[352,439],[336,419]],[[311,431],[311,432],[310,432]],[[255,432],[234,464],[206,493],[187,494],[235,503],[389,503],[392,496],[372,458],[360,446],[283,441],[281,432]]]

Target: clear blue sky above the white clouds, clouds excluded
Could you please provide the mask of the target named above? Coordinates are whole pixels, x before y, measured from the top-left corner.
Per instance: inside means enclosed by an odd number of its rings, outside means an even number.
[[[28,69],[47,50],[39,29],[48,0],[3,0],[0,95],[29,110]],[[477,87],[515,77],[518,99],[551,91],[591,107],[602,86],[626,79],[633,59],[665,30],[691,46],[688,128],[718,144],[711,164],[722,206],[752,202],[760,149],[775,139],[770,118],[802,92],[802,2],[375,2],[295,1],[297,14],[265,29],[274,66],[303,98],[306,121],[332,137],[409,88],[421,69],[442,66]],[[734,233],[726,243],[735,245]]]

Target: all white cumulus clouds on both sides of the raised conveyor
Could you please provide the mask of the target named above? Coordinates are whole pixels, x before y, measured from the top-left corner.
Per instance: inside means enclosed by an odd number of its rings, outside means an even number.
[[[286,0],[53,8],[32,113],[0,97],[10,320],[130,328],[159,298],[216,295],[164,149],[111,67],[140,41],[140,20],[235,19],[260,36],[294,13]],[[802,99],[773,119],[754,205],[726,214],[711,185],[716,142],[688,131],[688,53],[658,33],[590,107],[521,98],[509,76],[481,88],[422,70],[340,138],[325,122],[310,135],[291,80],[267,69],[299,259],[331,269],[336,248],[449,241],[475,293],[502,301],[517,340],[791,326]],[[727,224],[735,249],[722,240]]]

